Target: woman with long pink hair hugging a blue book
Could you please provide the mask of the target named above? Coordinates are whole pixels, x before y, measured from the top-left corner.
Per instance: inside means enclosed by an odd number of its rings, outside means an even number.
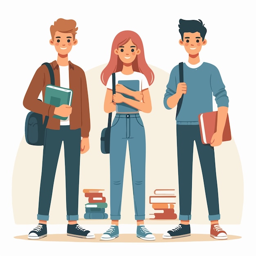
[[[114,94],[113,76],[115,77]],[[101,72],[101,81],[107,88],[104,111],[107,113],[116,111],[110,132],[111,226],[101,239],[112,240],[119,236],[118,222],[121,219],[124,164],[128,142],[137,237],[155,240],[155,236],[144,226],[146,140],[144,125],[139,115],[139,111],[151,112],[148,88],[154,81],[154,73],[146,63],[142,40],[137,33],[127,30],[115,36],[110,61]]]

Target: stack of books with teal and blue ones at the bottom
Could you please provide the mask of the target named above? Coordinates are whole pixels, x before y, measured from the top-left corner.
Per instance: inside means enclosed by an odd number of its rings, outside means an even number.
[[[108,207],[106,197],[102,195],[104,189],[83,189],[85,197],[88,198],[88,203],[85,204],[85,219],[107,219],[108,214],[105,209]]]

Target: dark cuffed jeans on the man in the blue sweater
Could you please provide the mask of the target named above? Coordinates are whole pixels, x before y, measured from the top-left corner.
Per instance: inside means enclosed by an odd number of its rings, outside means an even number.
[[[219,220],[218,187],[214,149],[202,144],[199,125],[177,125],[177,154],[180,197],[180,220],[191,220],[192,164],[194,141],[198,149],[209,220]]]

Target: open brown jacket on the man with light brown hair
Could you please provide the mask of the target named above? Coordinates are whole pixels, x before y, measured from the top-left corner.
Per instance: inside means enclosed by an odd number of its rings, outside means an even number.
[[[54,70],[55,85],[60,86],[60,70],[56,61],[50,63]],[[90,112],[88,91],[83,70],[69,61],[70,89],[73,90],[72,113],[70,115],[70,129],[81,128],[81,136],[89,137]],[[49,116],[47,128],[60,129],[60,119],[53,117],[55,106],[38,101],[40,92],[45,97],[45,87],[50,84],[50,75],[47,67],[42,65],[36,70],[34,77],[25,94],[23,105],[30,111]]]

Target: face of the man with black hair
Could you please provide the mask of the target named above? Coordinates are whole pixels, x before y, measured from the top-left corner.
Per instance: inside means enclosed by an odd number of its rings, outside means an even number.
[[[199,32],[185,32],[182,39],[179,40],[180,45],[184,45],[185,50],[190,55],[198,54],[202,45],[206,45],[207,40],[202,40]]]

